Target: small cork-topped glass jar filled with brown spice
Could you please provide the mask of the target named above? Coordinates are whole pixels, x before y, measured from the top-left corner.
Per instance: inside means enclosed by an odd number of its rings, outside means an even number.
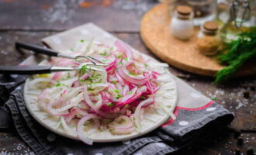
[[[213,56],[220,50],[220,36],[216,22],[205,22],[198,34],[197,47],[206,56]]]

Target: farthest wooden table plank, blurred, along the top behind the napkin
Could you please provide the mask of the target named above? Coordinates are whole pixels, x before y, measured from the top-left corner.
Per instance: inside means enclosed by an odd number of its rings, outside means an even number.
[[[94,22],[108,31],[139,32],[140,18],[157,1],[113,0],[110,5],[97,3],[90,8],[79,2],[1,0],[0,29],[64,30]]]

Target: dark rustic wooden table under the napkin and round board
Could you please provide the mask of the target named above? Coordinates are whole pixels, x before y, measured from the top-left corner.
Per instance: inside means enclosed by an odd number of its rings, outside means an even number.
[[[18,53],[14,43],[22,40],[40,44],[40,39],[85,22],[94,22],[132,47],[153,56],[140,40],[140,19],[157,4],[154,0],[0,0],[0,64],[16,65],[31,53]],[[154,56],[153,56],[154,57]],[[256,151],[256,76],[243,77],[216,87],[212,77],[202,77],[170,67],[193,88],[234,112],[234,122],[220,137],[209,143],[185,148],[178,154],[246,154],[249,146]],[[241,130],[244,145],[237,146],[233,129]],[[29,154],[29,147],[13,131],[0,131],[0,154]]]

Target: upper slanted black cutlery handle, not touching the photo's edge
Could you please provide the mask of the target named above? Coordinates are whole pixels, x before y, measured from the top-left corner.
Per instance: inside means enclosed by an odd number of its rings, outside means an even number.
[[[28,43],[20,43],[20,42],[16,42],[16,48],[22,48],[22,49],[26,49],[26,50],[33,50],[33,52],[35,53],[43,53],[46,54],[48,56],[54,56],[57,57],[58,52],[56,52],[55,50],[50,50],[47,48],[43,48],[40,46],[36,46],[36,45],[31,45]]]

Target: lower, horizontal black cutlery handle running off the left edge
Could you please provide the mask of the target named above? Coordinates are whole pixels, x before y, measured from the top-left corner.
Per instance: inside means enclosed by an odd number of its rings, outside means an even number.
[[[0,74],[48,74],[51,66],[0,66]]]

